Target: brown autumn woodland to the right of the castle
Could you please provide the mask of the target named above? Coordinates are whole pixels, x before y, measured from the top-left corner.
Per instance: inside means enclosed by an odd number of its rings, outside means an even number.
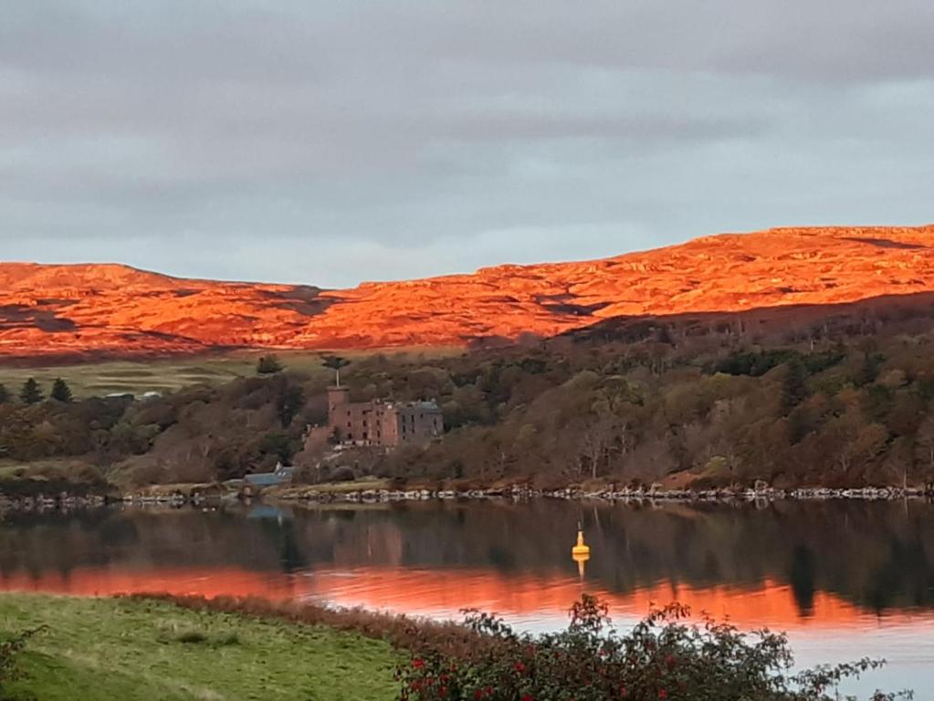
[[[615,345],[417,372],[451,431],[384,470],[704,484],[921,484],[934,479],[934,358],[927,337],[711,358]]]

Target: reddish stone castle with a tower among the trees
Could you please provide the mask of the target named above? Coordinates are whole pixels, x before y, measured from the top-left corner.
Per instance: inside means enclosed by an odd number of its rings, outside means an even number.
[[[328,429],[345,445],[424,445],[445,430],[434,401],[350,401],[347,387],[328,389]]]

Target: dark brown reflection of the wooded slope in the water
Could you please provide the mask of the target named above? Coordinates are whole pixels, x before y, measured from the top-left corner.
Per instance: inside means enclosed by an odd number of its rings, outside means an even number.
[[[190,511],[21,516],[0,529],[0,583],[84,568],[232,568],[263,581],[276,573],[427,569],[443,570],[432,576],[451,586],[459,570],[471,570],[554,582],[573,574],[569,548],[583,520],[593,548],[588,585],[610,593],[757,591],[770,582],[803,616],[821,615],[822,592],[869,610],[934,609],[932,516],[934,507],[922,503],[757,510],[557,501],[300,511],[282,523]]]

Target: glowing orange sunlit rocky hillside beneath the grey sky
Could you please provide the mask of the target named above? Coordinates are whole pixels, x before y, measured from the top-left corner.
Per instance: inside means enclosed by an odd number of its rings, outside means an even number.
[[[740,312],[934,291],[934,225],[775,229],[617,258],[354,289],[0,263],[0,357],[463,345],[620,316]]]

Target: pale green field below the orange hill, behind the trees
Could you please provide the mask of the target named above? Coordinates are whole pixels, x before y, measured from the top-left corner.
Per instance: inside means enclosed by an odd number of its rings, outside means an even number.
[[[424,354],[437,358],[455,352],[450,349],[430,349],[402,351],[398,354]],[[392,352],[392,355],[396,354]],[[256,373],[257,358],[262,355],[262,352],[243,352],[224,356],[114,360],[44,368],[0,366],[0,384],[7,386],[11,394],[16,394],[23,382],[35,377],[43,392],[48,395],[52,382],[61,377],[71,386],[76,397],[104,396],[118,392],[137,395],[144,392],[170,392],[185,386],[220,385],[237,377],[251,376]],[[276,355],[289,370],[305,372],[311,376],[329,372],[321,366],[322,354],[319,353],[287,351]],[[347,352],[341,355],[361,358],[371,354]]]

